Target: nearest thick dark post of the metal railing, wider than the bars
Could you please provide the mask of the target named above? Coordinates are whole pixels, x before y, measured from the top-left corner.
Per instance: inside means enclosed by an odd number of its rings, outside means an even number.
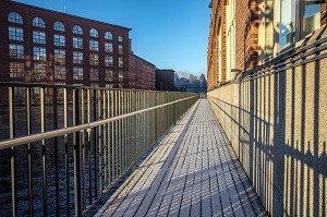
[[[74,125],[80,124],[80,88],[74,89]],[[75,216],[82,216],[81,206],[81,141],[80,131],[74,135],[74,195]]]

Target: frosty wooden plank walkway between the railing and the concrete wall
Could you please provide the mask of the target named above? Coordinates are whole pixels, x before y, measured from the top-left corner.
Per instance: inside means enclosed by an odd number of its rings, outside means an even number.
[[[206,99],[96,216],[266,216]]]

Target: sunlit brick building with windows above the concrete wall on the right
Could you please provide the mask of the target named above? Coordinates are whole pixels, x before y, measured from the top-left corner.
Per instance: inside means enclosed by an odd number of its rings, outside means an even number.
[[[211,0],[209,7],[209,91],[294,49],[327,22],[326,1]]]

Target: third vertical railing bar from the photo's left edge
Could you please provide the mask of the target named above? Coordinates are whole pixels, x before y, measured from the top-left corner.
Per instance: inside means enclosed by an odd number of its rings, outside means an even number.
[[[45,87],[40,88],[40,118],[41,132],[46,131],[46,109],[45,109]],[[43,191],[44,191],[44,215],[48,216],[48,190],[47,190],[47,158],[46,158],[46,141],[43,144]]]

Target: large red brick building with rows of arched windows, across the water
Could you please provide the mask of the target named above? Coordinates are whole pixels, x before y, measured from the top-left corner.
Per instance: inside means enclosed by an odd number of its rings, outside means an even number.
[[[0,81],[128,87],[130,28],[0,1]]]

